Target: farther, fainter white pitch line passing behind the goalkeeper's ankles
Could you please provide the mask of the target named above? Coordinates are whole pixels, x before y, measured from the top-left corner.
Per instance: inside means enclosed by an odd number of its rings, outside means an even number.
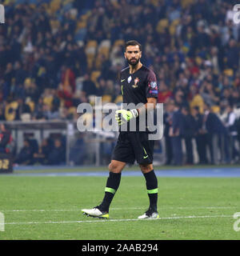
[[[130,208],[110,208],[110,210],[141,210],[145,209],[146,207],[130,207]],[[187,210],[187,209],[236,209],[240,208],[240,206],[190,206],[190,207],[159,207],[160,210],[164,209],[171,209],[171,210]],[[1,210],[2,212],[47,212],[47,211],[81,211],[81,209],[49,209],[49,210],[43,210],[43,209],[33,209],[33,210]]]

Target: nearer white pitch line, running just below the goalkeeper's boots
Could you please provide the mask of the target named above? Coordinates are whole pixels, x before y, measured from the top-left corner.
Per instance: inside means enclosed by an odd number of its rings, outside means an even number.
[[[6,222],[5,225],[33,225],[33,224],[71,224],[71,223],[102,223],[102,222],[135,222],[135,221],[158,221],[162,219],[179,219],[179,218],[232,218],[231,215],[212,215],[212,216],[175,216],[175,217],[162,217],[154,219],[138,219],[138,218],[122,218],[122,219],[107,219],[107,220],[94,220],[94,221],[62,221],[62,222]]]

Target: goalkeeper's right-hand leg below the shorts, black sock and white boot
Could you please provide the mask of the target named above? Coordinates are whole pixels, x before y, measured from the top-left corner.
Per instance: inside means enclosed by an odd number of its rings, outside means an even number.
[[[158,216],[158,178],[154,173],[153,164],[139,164],[142,174],[146,179],[146,191],[150,206],[145,214],[138,218],[159,218]]]

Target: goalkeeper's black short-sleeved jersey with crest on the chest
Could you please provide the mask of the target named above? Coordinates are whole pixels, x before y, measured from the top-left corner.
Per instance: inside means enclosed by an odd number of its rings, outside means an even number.
[[[156,75],[152,70],[148,69],[144,65],[142,65],[142,67],[133,74],[130,74],[130,67],[126,67],[121,71],[120,82],[122,86],[123,103],[134,103],[134,105],[138,105],[138,103],[146,104],[147,98],[158,98]],[[131,110],[133,108],[136,108],[136,106],[127,107],[127,110]],[[138,130],[139,118],[136,120],[136,127]],[[127,130],[129,130],[129,125]]]

